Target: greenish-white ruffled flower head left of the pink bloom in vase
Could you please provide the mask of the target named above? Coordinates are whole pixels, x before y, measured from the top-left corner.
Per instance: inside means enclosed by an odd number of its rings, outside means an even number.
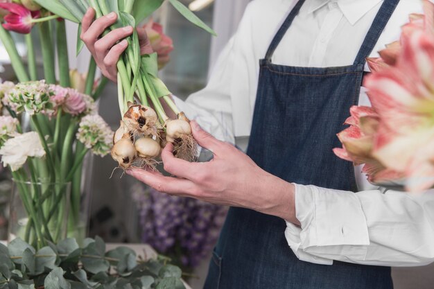
[[[8,105],[17,113],[27,112],[33,115],[53,108],[49,85],[46,85],[45,80],[18,83],[6,96]]]

